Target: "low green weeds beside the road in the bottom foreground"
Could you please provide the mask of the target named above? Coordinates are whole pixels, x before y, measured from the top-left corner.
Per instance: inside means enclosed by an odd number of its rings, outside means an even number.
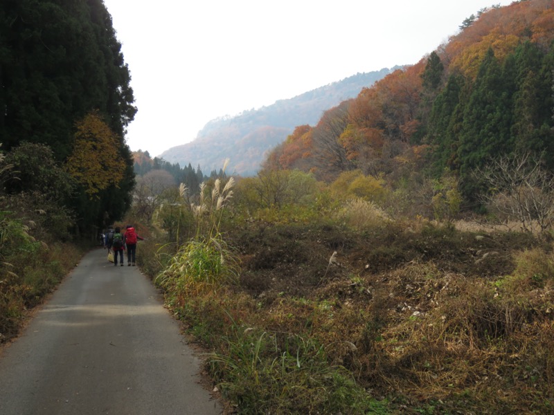
[[[226,353],[212,353],[208,366],[241,413],[384,411],[385,403],[356,385],[344,367],[329,365],[325,348],[311,338],[235,326],[225,342]]]

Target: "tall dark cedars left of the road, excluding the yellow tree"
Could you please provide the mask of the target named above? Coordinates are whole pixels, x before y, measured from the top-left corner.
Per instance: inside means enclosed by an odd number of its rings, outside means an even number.
[[[0,3],[0,142],[48,145],[63,163],[79,139],[78,122],[98,111],[116,136],[123,178],[73,199],[81,230],[120,218],[134,186],[125,131],[136,113],[129,69],[102,0],[4,0]]]

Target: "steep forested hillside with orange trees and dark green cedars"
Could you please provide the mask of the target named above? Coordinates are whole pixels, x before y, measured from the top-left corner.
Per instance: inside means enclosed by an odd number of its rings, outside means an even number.
[[[554,170],[554,8],[551,0],[482,10],[418,64],[296,127],[265,169],[301,169],[332,181],[346,170],[404,181],[461,179],[490,158],[521,151]]]

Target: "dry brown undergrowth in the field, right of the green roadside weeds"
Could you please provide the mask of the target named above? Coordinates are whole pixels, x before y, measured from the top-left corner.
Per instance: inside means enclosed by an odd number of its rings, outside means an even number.
[[[186,306],[220,334],[310,337],[383,413],[551,411],[551,243],[427,221],[365,232],[251,221],[232,240],[240,286]]]

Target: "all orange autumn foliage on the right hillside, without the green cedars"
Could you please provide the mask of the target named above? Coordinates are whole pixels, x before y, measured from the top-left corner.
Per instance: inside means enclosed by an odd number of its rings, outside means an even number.
[[[471,26],[436,50],[444,66],[444,73],[436,74],[437,85],[422,83],[422,75],[427,71],[424,57],[363,89],[357,98],[343,102],[346,113],[330,109],[323,114],[325,122],[320,121],[315,127],[298,127],[271,151],[265,167],[303,169],[325,178],[336,177],[343,168],[367,170],[374,161],[381,163],[377,172],[390,166],[391,160],[400,164],[402,160],[419,163],[423,154],[416,153],[429,149],[422,143],[431,102],[449,75],[460,74],[472,82],[489,50],[503,62],[524,42],[546,48],[553,38],[552,0],[515,2],[505,8],[492,7],[480,12]],[[323,124],[341,125],[341,129],[325,133]]]

